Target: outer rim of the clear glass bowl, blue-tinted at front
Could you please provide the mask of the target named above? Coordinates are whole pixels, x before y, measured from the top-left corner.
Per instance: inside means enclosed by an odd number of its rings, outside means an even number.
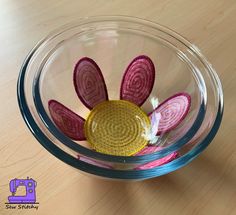
[[[22,68],[20,70],[20,75],[18,78],[18,83],[17,83],[18,103],[20,106],[21,114],[22,114],[27,126],[29,127],[29,129],[31,130],[33,135],[36,137],[36,139],[54,156],[56,156],[60,160],[64,161],[65,163],[67,163],[73,167],[76,167],[76,168],[81,169],[85,172],[95,174],[95,175],[105,176],[105,177],[109,177],[109,178],[120,178],[120,179],[144,179],[144,178],[156,177],[156,176],[165,174],[167,172],[174,171],[175,169],[178,169],[181,166],[186,165],[188,162],[190,162],[194,157],[196,157],[202,150],[204,150],[207,147],[207,145],[210,143],[210,141],[214,138],[214,136],[219,128],[219,125],[221,123],[222,114],[223,114],[223,93],[222,93],[221,83],[220,83],[220,80],[219,80],[217,74],[215,73],[215,71],[211,67],[211,65],[207,62],[205,57],[200,53],[200,51],[194,45],[192,45],[190,42],[188,42],[186,39],[184,39],[178,33],[170,30],[169,28],[166,28],[162,25],[159,25],[157,23],[154,23],[154,22],[151,22],[148,20],[144,20],[144,19],[140,19],[140,18],[136,18],[136,17],[127,17],[127,16],[95,16],[92,18],[86,17],[86,18],[82,19],[82,22],[83,22],[83,20],[97,19],[98,17],[99,17],[99,19],[103,19],[103,18],[104,19],[113,19],[114,21],[116,21],[117,19],[124,19],[126,21],[131,19],[131,20],[135,20],[136,22],[145,22],[145,23],[148,23],[151,25],[155,25],[156,27],[161,27],[164,30],[170,31],[172,34],[173,33],[176,34],[178,37],[180,37],[182,40],[184,40],[184,42],[187,42],[187,44],[190,45],[190,48],[193,49],[193,51],[195,53],[197,53],[198,56],[200,56],[200,58],[203,60],[204,64],[206,65],[208,70],[211,72],[213,78],[215,79],[215,81],[217,83],[217,90],[218,90],[218,96],[219,96],[219,106],[218,106],[218,112],[217,112],[217,115],[215,118],[215,122],[211,128],[211,131],[208,133],[208,135],[204,138],[204,140],[199,145],[194,147],[191,151],[189,151],[185,155],[181,156],[180,158],[177,158],[174,161],[172,161],[168,164],[162,165],[160,167],[155,167],[155,168],[152,168],[149,170],[142,170],[142,171],[139,170],[138,171],[139,173],[137,173],[136,170],[110,170],[110,169],[107,170],[107,169],[104,169],[101,167],[97,167],[97,166],[85,163],[83,161],[79,161],[75,157],[67,154],[62,149],[57,147],[53,142],[51,142],[47,138],[47,136],[41,131],[41,129],[38,127],[37,123],[35,122],[32,114],[30,112],[30,109],[27,106],[26,97],[25,97],[25,93],[24,93],[24,79],[25,79],[25,73],[27,71],[27,66],[28,66],[31,58],[33,57],[34,53],[38,49],[38,47],[43,42],[45,42],[45,40],[50,38],[49,36],[46,37],[41,42],[39,42],[32,49],[32,51],[28,54],[28,56],[26,57],[23,65],[22,65]],[[76,22],[76,23],[78,24],[78,22]],[[173,147],[173,148],[174,148],[173,151],[176,150],[175,147]],[[170,151],[168,150],[168,148],[166,148],[166,150],[164,149],[162,151],[162,156],[159,156],[159,157],[156,156],[155,158],[156,159],[161,158],[169,153],[170,153]],[[103,155],[103,154],[101,154],[101,155]],[[149,155],[146,155],[146,157],[148,157],[148,156]],[[140,160],[140,162],[143,162],[144,160],[147,161],[145,159],[145,155],[144,156],[137,156],[137,157],[144,157],[144,159]],[[120,159],[122,159],[122,161],[124,161],[124,156],[121,156]],[[150,160],[153,160],[153,159],[150,159]],[[112,160],[112,162],[114,162],[114,160]],[[126,160],[124,162],[126,162]],[[129,162],[127,162],[127,163],[129,163]]]

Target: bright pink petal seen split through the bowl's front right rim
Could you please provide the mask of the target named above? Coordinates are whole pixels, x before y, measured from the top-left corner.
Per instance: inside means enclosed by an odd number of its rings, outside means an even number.
[[[160,151],[162,149],[162,147],[159,146],[148,146],[145,147],[143,150],[141,150],[140,152],[138,152],[136,155],[146,155],[146,154],[150,154],[150,153],[154,153],[157,151]],[[163,164],[169,163],[170,161],[174,160],[175,158],[178,157],[178,152],[173,152],[161,159],[155,160],[155,161],[151,161],[149,163],[146,164],[142,164],[138,167],[136,167],[136,170],[144,170],[144,169],[151,169],[157,166],[161,166]]]

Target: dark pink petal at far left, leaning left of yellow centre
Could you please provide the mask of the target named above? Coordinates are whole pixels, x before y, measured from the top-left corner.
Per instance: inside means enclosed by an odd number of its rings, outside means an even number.
[[[52,120],[63,134],[74,140],[85,140],[85,120],[55,100],[48,102]]]

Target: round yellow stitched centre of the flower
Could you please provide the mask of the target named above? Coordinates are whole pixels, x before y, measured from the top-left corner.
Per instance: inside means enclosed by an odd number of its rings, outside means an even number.
[[[150,119],[137,105],[112,100],[101,102],[91,110],[84,132],[96,151],[130,156],[147,145],[145,128],[150,128]]]

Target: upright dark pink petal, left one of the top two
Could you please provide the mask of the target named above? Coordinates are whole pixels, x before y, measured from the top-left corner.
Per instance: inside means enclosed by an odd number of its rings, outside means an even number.
[[[80,59],[75,66],[73,78],[78,97],[89,109],[108,100],[107,87],[102,72],[92,59],[88,57]]]

